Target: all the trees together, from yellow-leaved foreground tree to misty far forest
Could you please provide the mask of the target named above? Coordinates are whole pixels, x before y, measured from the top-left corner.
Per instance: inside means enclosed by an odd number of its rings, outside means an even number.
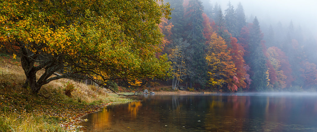
[[[291,20],[261,28],[242,3],[228,1],[224,10],[210,0],[1,6],[1,52],[21,57],[23,88],[33,93],[62,78],[113,92],[146,83],[213,92],[316,91],[315,39]]]

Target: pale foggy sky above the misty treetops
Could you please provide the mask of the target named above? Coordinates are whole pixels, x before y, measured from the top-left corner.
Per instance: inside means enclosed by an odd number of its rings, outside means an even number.
[[[224,11],[228,8],[229,0],[211,0],[210,3],[218,3]],[[277,24],[281,21],[284,28],[293,21],[294,27],[311,32],[317,39],[317,0],[230,0],[236,8],[241,2],[246,16],[251,14],[260,22]],[[260,23],[261,24],[261,23]],[[263,24],[263,23],[262,23]]]

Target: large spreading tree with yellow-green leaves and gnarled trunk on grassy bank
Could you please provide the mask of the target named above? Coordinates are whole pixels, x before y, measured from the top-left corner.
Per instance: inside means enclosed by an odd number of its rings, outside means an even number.
[[[158,25],[171,10],[158,3],[163,1],[0,0],[0,47],[16,47],[24,87],[34,93],[61,78],[139,85],[135,80],[164,78],[170,67],[166,55],[155,57],[163,38]],[[67,72],[56,73],[61,69]]]

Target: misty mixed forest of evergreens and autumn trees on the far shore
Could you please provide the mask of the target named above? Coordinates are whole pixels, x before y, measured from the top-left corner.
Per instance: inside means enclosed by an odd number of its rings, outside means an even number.
[[[173,10],[159,24],[165,35],[159,54],[172,64],[173,89],[316,91],[316,41],[292,21],[261,29],[241,3],[229,1],[222,10],[210,0],[167,2]]]

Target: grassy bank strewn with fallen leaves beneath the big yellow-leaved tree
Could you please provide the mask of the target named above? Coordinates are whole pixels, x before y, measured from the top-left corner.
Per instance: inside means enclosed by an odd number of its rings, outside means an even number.
[[[71,79],[52,81],[33,94],[22,88],[26,77],[18,57],[1,54],[0,62],[0,132],[75,131],[80,117],[111,102],[131,101]]]

